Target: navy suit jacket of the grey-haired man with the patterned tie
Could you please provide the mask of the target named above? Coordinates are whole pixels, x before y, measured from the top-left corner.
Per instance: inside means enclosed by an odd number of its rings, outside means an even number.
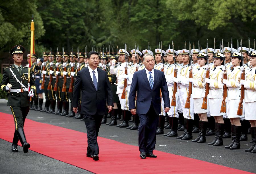
[[[140,70],[134,73],[133,80],[129,95],[129,109],[135,109],[135,94],[137,91],[136,112],[137,114],[146,114],[150,108],[151,102],[153,103],[156,114],[161,113],[161,98],[164,99],[164,107],[170,108],[170,98],[168,87],[164,73],[154,69],[154,86],[151,90],[146,70]]]

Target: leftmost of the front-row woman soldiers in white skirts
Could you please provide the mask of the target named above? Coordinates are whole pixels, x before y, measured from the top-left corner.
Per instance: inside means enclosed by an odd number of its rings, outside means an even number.
[[[189,78],[188,81],[193,83],[193,93],[192,98],[194,102],[194,112],[199,116],[199,133],[198,137],[192,142],[203,143],[205,142],[205,134],[207,129],[207,110],[201,109],[201,105],[203,103],[203,98],[205,97],[205,63],[207,60],[207,55],[204,53],[200,53],[197,56],[197,63],[199,68],[193,71],[193,78]]]

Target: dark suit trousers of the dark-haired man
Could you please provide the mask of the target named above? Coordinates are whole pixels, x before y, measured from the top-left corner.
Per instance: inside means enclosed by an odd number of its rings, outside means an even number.
[[[87,131],[87,156],[99,154],[99,145],[97,137],[103,115],[83,115],[84,123]]]

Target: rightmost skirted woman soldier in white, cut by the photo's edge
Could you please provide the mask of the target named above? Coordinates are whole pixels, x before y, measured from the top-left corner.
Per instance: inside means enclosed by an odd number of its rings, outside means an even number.
[[[246,71],[245,80],[240,80],[240,84],[244,85],[244,102],[245,102],[245,119],[251,124],[251,139],[252,146],[246,149],[245,152],[256,153],[256,52],[250,54],[250,65],[252,68]]]

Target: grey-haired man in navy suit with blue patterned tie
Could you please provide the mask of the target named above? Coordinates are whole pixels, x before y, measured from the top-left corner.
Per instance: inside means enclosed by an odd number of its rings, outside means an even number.
[[[170,98],[164,73],[154,69],[154,56],[146,54],[143,57],[143,62],[145,69],[137,71],[133,75],[129,95],[129,109],[133,115],[137,113],[140,118],[139,150],[141,152],[140,157],[145,159],[146,156],[156,158],[153,150],[156,145],[158,115],[161,113],[160,89],[165,112],[170,110]]]

